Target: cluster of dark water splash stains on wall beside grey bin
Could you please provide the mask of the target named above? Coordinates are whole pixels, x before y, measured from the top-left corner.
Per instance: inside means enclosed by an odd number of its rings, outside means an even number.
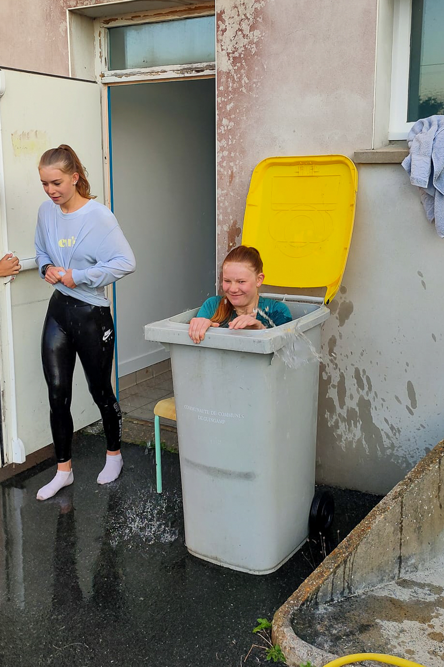
[[[401,421],[391,414],[385,392],[379,389],[381,372],[375,354],[370,356],[362,349],[359,355],[356,352],[353,355],[353,349],[345,350],[341,344],[339,329],[347,328],[349,338],[353,336],[349,327],[355,326],[353,300],[344,285],[331,302],[330,310],[337,324],[337,335],[329,336],[322,348],[325,363],[321,364],[319,379],[317,478],[319,482],[334,483],[343,468],[349,471],[347,486],[353,488],[355,467],[359,470],[355,488],[387,492],[415,462],[399,447]],[[408,362],[405,370],[409,370]],[[387,383],[387,374],[383,378]],[[405,386],[404,400],[397,394],[392,394],[392,398],[400,405],[408,400],[405,407],[409,414],[414,414],[417,398],[411,380]],[[379,416],[379,412],[383,414]],[[381,460],[383,472],[373,475],[373,471],[381,468]],[[363,484],[367,488],[363,489]]]

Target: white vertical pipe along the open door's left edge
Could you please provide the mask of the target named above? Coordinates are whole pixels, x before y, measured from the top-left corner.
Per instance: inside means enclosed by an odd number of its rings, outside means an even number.
[[[5,93],[5,73],[0,70],[0,99]],[[3,221],[1,229],[1,240],[3,248],[9,248],[8,230],[7,230],[7,211],[6,211],[6,189],[5,189],[5,168],[3,164],[3,138],[1,133],[1,114],[0,114],[0,218]],[[5,358],[3,364],[9,367],[9,392],[3,392],[3,414],[5,420],[5,440],[6,454],[8,463],[24,463],[25,447],[19,438],[17,427],[17,396],[15,393],[15,363],[14,363],[14,341],[13,341],[13,323],[12,323],[12,305],[11,305],[11,281],[5,279],[5,318],[7,329],[7,341],[3,345]],[[2,382],[3,388],[5,386]],[[6,395],[6,404],[5,402]]]

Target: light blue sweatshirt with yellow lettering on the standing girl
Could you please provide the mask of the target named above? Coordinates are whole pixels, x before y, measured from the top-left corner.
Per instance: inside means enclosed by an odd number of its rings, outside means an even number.
[[[39,208],[35,230],[35,262],[73,269],[71,289],[56,289],[92,305],[109,305],[105,285],[135,271],[135,257],[113,213],[90,199],[73,213],[63,213],[53,201]]]

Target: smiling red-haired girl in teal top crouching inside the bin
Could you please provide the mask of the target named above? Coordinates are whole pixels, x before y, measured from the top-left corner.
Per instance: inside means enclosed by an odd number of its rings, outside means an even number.
[[[259,295],[264,279],[256,248],[239,245],[223,260],[223,296],[210,297],[189,323],[189,337],[199,344],[210,327],[270,329],[291,321],[285,303]]]

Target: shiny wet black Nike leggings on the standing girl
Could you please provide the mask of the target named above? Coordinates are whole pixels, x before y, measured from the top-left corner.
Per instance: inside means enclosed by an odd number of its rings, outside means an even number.
[[[109,307],[90,305],[55,289],[41,336],[43,373],[48,386],[51,432],[57,462],[71,459],[71,398],[75,356],[103,420],[110,452],[120,449],[122,413],[111,386],[114,324]]]

